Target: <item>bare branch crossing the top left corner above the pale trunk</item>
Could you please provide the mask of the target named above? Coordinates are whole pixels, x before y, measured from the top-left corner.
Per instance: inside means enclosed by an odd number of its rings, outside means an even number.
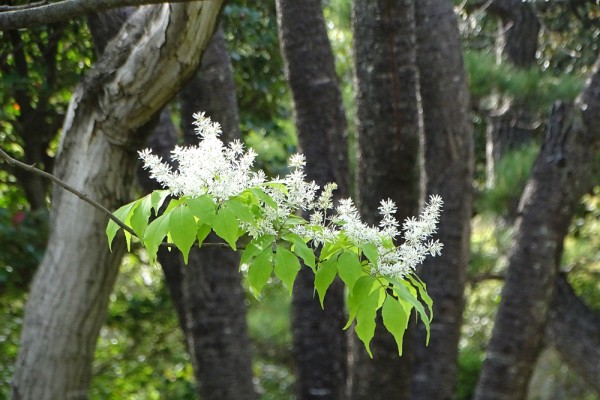
[[[171,0],[186,3],[198,0]],[[210,1],[210,0],[200,0]],[[62,0],[55,3],[40,1],[25,6],[0,7],[0,31],[30,28],[97,13],[112,8],[166,3],[165,0]]]

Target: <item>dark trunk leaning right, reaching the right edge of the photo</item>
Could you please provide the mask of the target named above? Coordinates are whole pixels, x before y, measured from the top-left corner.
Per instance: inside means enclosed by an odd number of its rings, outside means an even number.
[[[515,223],[502,302],[475,398],[520,400],[542,346],[563,240],[600,144],[600,59],[575,104],[557,103]],[[510,385],[507,385],[510,382]]]

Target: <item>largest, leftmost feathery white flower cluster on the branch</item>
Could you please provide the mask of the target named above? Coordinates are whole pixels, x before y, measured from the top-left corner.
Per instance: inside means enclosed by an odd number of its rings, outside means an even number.
[[[194,118],[196,133],[202,139],[197,146],[175,147],[171,158],[178,165],[176,171],[149,149],[139,153],[151,178],[169,188],[175,196],[210,194],[219,201],[265,181],[262,171],[251,171],[256,158],[254,150],[244,152],[239,140],[225,147],[219,139],[221,126],[218,122],[212,122],[204,113],[194,114]]]

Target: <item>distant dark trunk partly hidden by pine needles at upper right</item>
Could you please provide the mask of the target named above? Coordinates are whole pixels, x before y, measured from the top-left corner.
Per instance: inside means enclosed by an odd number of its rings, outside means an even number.
[[[521,0],[494,0],[488,11],[498,16],[498,43],[502,58],[519,68],[536,65],[540,22],[531,5]],[[533,139],[534,121],[526,104],[501,99],[502,107],[490,117],[487,130],[488,183],[494,182],[498,161],[510,150]],[[515,205],[516,206],[516,205]],[[509,205],[510,207],[510,205]],[[515,210],[510,210],[513,215]]]

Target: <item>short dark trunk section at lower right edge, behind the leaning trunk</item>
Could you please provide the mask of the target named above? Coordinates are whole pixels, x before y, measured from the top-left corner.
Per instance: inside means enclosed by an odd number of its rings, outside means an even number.
[[[600,314],[586,306],[563,275],[554,284],[546,340],[600,394]]]

